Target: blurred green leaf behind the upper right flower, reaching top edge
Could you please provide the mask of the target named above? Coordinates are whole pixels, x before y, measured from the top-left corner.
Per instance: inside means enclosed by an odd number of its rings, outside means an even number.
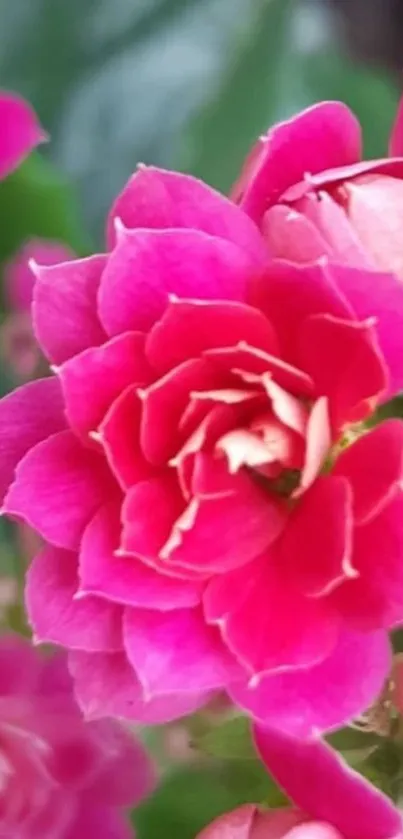
[[[320,11],[315,3],[258,0],[219,92],[189,128],[189,170],[227,191],[259,134],[323,99],[346,102],[360,119],[366,154],[386,155],[397,86],[337,52],[331,19]]]

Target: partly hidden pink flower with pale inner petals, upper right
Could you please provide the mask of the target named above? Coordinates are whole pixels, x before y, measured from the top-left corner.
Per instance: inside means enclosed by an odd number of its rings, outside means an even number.
[[[361,162],[361,146],[359,123],[340,102],[315,105],[260,138],[233,197],[273,256],[306,263],[326,255],[403,279],[403,100],[391,157]]]

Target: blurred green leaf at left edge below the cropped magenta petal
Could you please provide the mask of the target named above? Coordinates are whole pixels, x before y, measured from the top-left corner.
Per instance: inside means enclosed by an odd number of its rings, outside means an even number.
[[[71,187],[39,153],[0,183],[0,261],[31,236],[63,241],[77,253],[89,247]]]

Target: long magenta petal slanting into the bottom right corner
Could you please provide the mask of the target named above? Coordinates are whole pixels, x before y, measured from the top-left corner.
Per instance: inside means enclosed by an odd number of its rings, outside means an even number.
[[[400,835],[397,808],[326,743],[301,742],[260,726],[255,726],[254,737],[270,775],[310,818],[329,822],[344,839]]]

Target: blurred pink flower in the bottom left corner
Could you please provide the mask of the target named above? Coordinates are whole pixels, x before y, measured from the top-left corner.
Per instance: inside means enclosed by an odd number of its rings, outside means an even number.
[[[85,723],[62,654],[0,641],[0,835],[129,839],[124,808],[154,784],[143,747],[117,723]]]

